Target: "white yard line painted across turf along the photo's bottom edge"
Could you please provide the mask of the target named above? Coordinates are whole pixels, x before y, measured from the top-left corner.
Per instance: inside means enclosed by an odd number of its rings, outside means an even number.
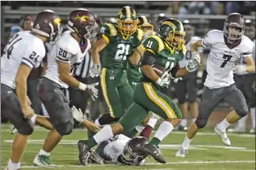
[[[254,163],[255,160],[220,160],[220,161],[179,161],[179,162],[167,162],[166,164],[149,162],[146,163],[146,166],[157,166],[157,165],[182,165],[182,164],[234,164],[234,163]],[[22,163],[21,163],[22,164]],[[88,165],[87,167],[94,167],[94,166],[118,166],[114,164],[104,164],[104,165]],[[24,168],[41,168],[39,166],[21,166]],[[56,167],[64,167],[64,165],[59,165],[55,167],[47,167],[47,168],[56,168]],[[65,167],[84,167],[84,166],[74,166],[74,165],[65,165]],[[143,167],[143,166],[141,166]]]

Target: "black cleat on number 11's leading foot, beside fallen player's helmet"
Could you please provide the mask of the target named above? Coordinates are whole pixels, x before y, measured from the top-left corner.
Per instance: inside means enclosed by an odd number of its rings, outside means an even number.
[[[151,155],[157,162],[160,162],[162,164],[166,163],[166,160],[162,158],[162,153],[160,149],[156,145],[146,144],[144,151],[146,155]]]

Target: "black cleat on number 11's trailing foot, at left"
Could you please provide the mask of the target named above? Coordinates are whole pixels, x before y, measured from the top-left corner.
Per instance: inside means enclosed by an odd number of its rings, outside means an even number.
[[[87,166],[89,158],[91,156],[91,153],[89,152],[89,149],[87,147],[87,140],[79,140],[78,147],[79,147],[79,162],[81,165]]]

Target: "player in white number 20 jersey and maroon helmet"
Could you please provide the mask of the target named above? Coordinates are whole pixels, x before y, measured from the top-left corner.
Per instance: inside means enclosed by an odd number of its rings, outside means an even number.
[[[96,35],[97,24],[94,15],[86,9],[74,10],[69,14],[67,30],[58,37],[48,57],[46,74],[38,84],[41,102],[49,113],[49,121],[54,129],[49,132],[42,149],[34,158],[35,166],[51,166],[49,154],[63,136],[72,133],[72,109],[64,92],[68,86],[81,91],[88,90],[93,98],[98,91],[92,85],[85,85],[72,77],[72,70],[84,59],[90,40]]]

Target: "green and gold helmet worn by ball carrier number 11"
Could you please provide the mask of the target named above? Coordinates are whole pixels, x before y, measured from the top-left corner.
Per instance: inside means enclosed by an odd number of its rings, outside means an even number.
[[[182,50],[184,46],[184,26],[177,18],[163,20],[159,27],[159,35],[169,47]]]

